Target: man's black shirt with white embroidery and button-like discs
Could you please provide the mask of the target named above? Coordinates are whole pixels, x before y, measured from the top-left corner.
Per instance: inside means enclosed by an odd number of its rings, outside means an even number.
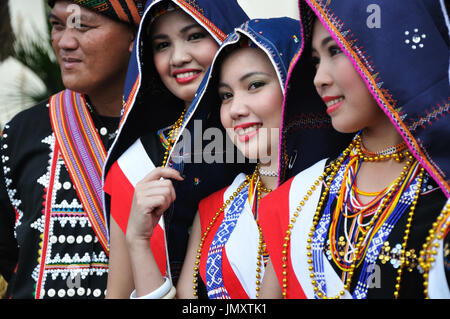
[[[108,148],[119,118],[91,114]],[[19,113],[2,132],[0,272],[8,281],[6,298],[104,298],[108,256],[61,156],[49,194],[51,214],[45,214],[54,146],[48,101]]]

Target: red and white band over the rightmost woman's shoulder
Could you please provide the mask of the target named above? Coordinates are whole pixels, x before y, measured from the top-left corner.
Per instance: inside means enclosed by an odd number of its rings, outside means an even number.
[[[290,220],[295,217],[297,207],[307,191],[313,185],[314,181],[323,173],[325,169],[326,159],[321,160],[310,168],[302,171],[294,178],[281,186],[275,196],[267,196],[263,201],[275,201],[279,203],[279,208],[271,213],[265,213],[264,219],[261,221],[263,227],[264,238],[268,245],[271,261],[280,283],[282,279],[282,256],[281,248],[284,244],[285,231],[288,229]],[[309,199],[305,201],[300,214],[296,217],[294,228],[291,230],[291,238],[289,241],[288,263],[287,263],[287,298],[311,298],[314,299],[314,286],[311,284],[309,277],[309,266],[306,258],[308,233],[313,226],[313,218],[316,212],[317,204],[320,199],[322,184],[316,188]],[[265,203],[264,210],[268,207]],[[287,214],[289,212],[289,215]],[[277,220],[278,219],[278,220]],[[274,225],[279,227],[274,227]],[[280,231],[281,230],[281,231]],[[324,256],[325,276],[327,289],[330,295],[337,295],[343,289],[344,284],[334,271],[328,259]],[[347,292],[341,298],[351,298]]]

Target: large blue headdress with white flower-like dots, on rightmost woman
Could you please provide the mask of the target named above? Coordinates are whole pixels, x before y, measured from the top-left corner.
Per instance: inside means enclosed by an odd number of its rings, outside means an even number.
[[[439,1],[301,0],[300,16],[305,41],[313,19],[322,22],[449,197],[449,30]]]

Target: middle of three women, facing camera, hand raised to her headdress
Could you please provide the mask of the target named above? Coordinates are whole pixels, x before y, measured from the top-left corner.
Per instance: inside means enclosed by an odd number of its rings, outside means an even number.
[[[250,20],[236,28],[219,49],[205,88],[199,89],[200,96],[188,110],[189,123],[209,113],[207,127],[221,123],[225,128],[221,132],[237,149],[260,162],[256,169],[253,164],[253,174],[235,176],[229,187],[200,202],[177,285],[180,298],[257,296],[266,258],[258,226],[259,201],[277,185],[285,81],[300,48],[298,31],[298,21],[289,18]],[[174,192],[142,195],[135,198],[127,231],[135,270],[133,296],[172,296],[169,279],[157,270],[148,237]],[[152,197],[159,200],[158,195],[162,203],[146,202]]]

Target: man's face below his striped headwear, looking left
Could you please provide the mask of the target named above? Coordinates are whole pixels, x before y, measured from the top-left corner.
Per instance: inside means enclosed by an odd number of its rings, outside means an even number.
[[[71,1],[57,1],[49,19],[66,88],[89,94],[123,86],[134,40],[131,27]]]

